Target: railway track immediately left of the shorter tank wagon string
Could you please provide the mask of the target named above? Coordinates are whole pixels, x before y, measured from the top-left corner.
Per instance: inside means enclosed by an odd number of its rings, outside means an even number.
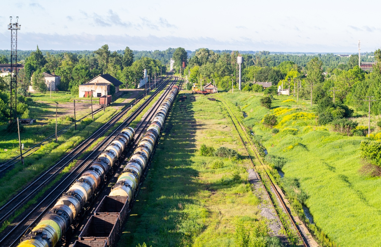
[[[168,83],[168,82],[167,82]],[[166,83],[165,83],[165,85],[166,85]],[[163,87],[165,87],[165,85],[162,85],[162,88]],[[158,94],[158,92],[159,92],[160,90],[157,90],[157,91],[155,91],[155,93],[153,94],[153,95],[151,95],[151,96],[153,96],[152,98],[151,98],[151,101],[152,101],[152,99]],[[150,97],[151,97],[150,96]],[[145,109],[145,107],[149,104],[149,102],[148,101],[146,101],[145,102],[146,104],[145,105],[141,105],[141,106],[139,106],[139,107],[141,107],[141,108],[139,108],[139,110],[136,110],[134,113],[133,113],[133,115],[130,115],[119,127],[117,127],[110,135],[109,135],[109,137],[108,138],[105,138],[105,140],[103,140],[102,141],[102,143],[101,144],[99,144],[98,145],[98,147],[102,147],[104,144],[106,144],[107,143],[107,141],[110,141],[110,138],[115,134],[115,133],[118,133],[118,131],[120,131],[120,128],[124,128],[125,126],[127,126],[127,125],[129,125],[144,109]],[[98,152],[98,154],[100,154],[102,151],[104,150],[104,148],[102,148],[101,149],[101,151],[99,151]],[[91,152],[91,154],[88,156],[88,157],[90,157],[90,156],[92,156],[93,154],[95,154],[96,152],[98,151],[98,149],[96,149],[96,150],[94,150],[94,151],[92,151]],[[96,156],[94,156],[94,159],[96,159],[96,157],[97,157],[98,155],[96,155]],[[94,160],[93,159],[93,160]],[[88,159],[84,159],[81,163],[80,163],[80,165],[78,165],[77,166],[77,168],[75,168],[75,170],[73,170],[72,172],[71,172],[71,174],[74,174],[74,172],[77,172],[78,170],[80,170],[80,168],[83,168],[83,165],[85,164],[85,163],[87,163],[88,162]],[[86,165],[86,167],[85,168],[83,168],[82,169],[82,171],[83,170],[85,170],[86,168],[88,168],[89,166],[91,165],[91,162],[88,164],[88,165]],[[35,223],[37,223],[37,221],[50,209],[50,207],[51,207],[51,205],[53,205],[55,202],[56,202],[56,200],[57,199],[59,199],[59,197],[61,197],[61,195],[62,195],[62,193],[63,192],[65,192],[70,186],[71,186],[71,184],[76,180],[76,179],[78,179],[79,177],[80,177],[80,175],[81,175],[81,173],[82,173],[82,171],[74,178],[74,179],[72,179],[71,181],[69,181],[69,183],[67,184],[67,186],[65,187],[65,189],[63,189],[60,193],[58,193],[58,196],[57,197],[55,197],[53,200],[51,200],[51,203],[47,206],[47,207],[45,207],[45,209],[43,210],[43,212],[42,213],[40,213],[40,215],[38,215],[37,216],[37,218],[26,228],[26,229],[24,229],[23,231],[22,231],[22,234],[20,234],[18,237],[16,237],[16,239],[14,239],[14,241],[9,245],[9,246],[12,246],[12,245],[14,245],[17,241],[19,241],[19,239],[24,235],[24,233],[31,227],[31,226],[33,226]],[[69,180],[69,178],[70,178],[70,176],[67,176],[66,178],[64,178],[64,180],[62,180],[61,181],[61,183],[59,183],[58,185],[56,185],[55,186],[55,188],[53,189],[53,191],[51,191],[48,195],[46,195],[45,197],[44,197],[44,199],[42,199],[42,201],[40,201],[39,203],[38,203],[38,205],[36,205],[35,207],[34,207],[34,209],[32,209],[22,220],[20,220],[19,221],[19,223],[18,223],[18,225],[16,225],[13,229],[11,229],[11,231],[8,233],[8,234],[6,234],[6,236],[5,237],[3,237],[3,239],[2,240],[0,240],[0,244],[2,244],[8,237],[10,237],[10,235],[12,234],[12,233],[14,233],[14,231],[16,231],[17,230],[17,228],[21,225],[20,223],[22,223],[22,222],[24,222],[24,221],[26,221],[26,220],[30,220],[30,215],[32,215],[32,213],[34,213],[34,212],[36,212],[38,209],[40,209],[40,206],[44,203],[44,202],[46,202],[47,200],[48,200],[48,198],[50,197],[50,196],[54,196],[54,194],[57,194],[57,190],[58,190],[58,188],[61,188],[62,186],[64,186],[64,185],[66,185],[64,182],[67,182],[68,180]],[[47,203],[49,203],[49,202],[47,202]]]

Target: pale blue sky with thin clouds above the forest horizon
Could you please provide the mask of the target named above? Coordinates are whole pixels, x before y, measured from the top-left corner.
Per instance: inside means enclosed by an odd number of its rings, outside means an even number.
[[[0,9],[0,50],[19,16],[18,49],[251,50],[357,53],[381,48],[380,1],[13,0]],[[372,11],[375,10],[375,11]],[[357,11],[357,13],[356,13]]]

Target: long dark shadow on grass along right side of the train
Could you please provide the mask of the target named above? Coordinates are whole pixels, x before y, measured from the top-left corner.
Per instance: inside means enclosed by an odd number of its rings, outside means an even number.
[[[118,246],[187,245],[202,231],[202,225],[187,220],[189,208],[197,207],[192,195],[205,189],[196,181],[199,172],[191,160],[196,152],[194,100],[193,95],[184,102],[176,99]]]

